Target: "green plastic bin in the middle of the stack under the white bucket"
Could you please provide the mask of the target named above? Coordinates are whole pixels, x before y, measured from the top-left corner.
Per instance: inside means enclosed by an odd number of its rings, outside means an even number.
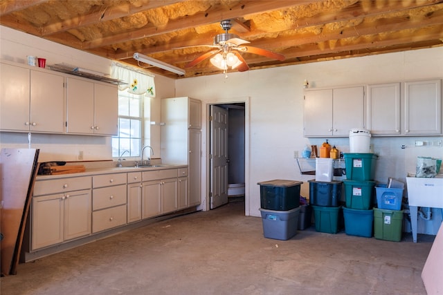
[[[346,207],[369,210],[373,207],[374,181],[343,180],[345,184]]]

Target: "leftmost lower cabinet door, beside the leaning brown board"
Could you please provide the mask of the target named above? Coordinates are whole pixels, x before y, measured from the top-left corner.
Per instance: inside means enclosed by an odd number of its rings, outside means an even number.
[[[64,194],[33,198],[32,249],[63,242]]]

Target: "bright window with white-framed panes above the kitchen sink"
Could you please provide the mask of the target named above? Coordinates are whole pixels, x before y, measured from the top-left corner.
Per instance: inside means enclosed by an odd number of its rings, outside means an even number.
[[[149,142],[149,138],[142,137],[149,137],[150,133],[144,122],[150,122],[150,97],[118,91],[118,133],[112,137],[113,157],[118,158],[125,151],[127,157],[140,156],[142,142]]]

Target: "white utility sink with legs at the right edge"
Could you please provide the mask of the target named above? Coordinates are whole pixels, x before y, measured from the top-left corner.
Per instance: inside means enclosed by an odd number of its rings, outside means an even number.
[[[410,223],[413,228],[413,241],[417,242],[417,209],[418,207],[443,208],[443,176],[435,178],[406,177],[408,184],[408,203]]]

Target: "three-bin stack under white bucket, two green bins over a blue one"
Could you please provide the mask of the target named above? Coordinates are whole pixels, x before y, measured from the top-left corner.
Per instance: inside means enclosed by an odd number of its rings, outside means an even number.
[[[350,236],[372,237],[374,224],[374,181],[377,155],[345,153],[345,233]]]

